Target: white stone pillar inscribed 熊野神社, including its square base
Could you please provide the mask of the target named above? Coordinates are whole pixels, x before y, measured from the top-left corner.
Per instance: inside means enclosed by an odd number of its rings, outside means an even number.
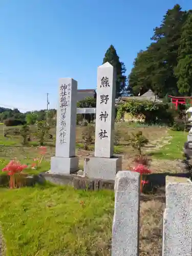
[[[114,180],[121,170],[121,158],[113,156],[115,94],[116,71],[106,62],[97,71],[95,157],[86,158],[83,167],[89,178]]]

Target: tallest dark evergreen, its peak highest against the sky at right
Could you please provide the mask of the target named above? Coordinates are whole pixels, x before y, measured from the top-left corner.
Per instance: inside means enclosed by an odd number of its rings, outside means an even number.
[[[174,69],[177,66],[179,42],[186,18],[187,13],[181,10],[180,5],[175,5],[173,9],[167,10],[161,26],[154,30],[152,39],[156,40],[156,43],[150,46],[155,50],[152,83],[155,90],[159,89],[160,96],[167,93],[178,94]]]

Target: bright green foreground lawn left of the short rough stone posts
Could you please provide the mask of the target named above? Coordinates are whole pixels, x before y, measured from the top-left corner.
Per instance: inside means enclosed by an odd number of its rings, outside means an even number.
[[[114,193],[47,185],[0,189],[7,256],[110,256]]]

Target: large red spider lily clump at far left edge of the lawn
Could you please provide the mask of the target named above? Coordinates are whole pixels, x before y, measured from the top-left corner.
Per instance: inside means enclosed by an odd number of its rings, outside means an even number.
[[[17,160],[11,160],[3,169],[3,172],[7,172],[10,176],[10,182],[9,187],[14,188],[15,187],[15,175],[18,176],[23,169],[27,168],[28,166],[26,164],[21,164]]]

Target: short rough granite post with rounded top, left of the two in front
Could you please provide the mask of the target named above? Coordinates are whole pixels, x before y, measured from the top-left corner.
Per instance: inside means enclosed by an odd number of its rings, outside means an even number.
[[[112,256],[139,256],[140,175],[120,171],[115,179]]]

